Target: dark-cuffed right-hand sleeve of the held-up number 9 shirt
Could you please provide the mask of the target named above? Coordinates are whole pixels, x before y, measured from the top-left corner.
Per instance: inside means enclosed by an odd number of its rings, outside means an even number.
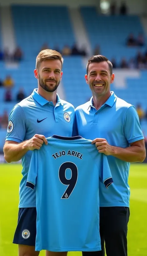
[[[99,166],[99,176],[100,181],[104,183],[106,189],[113,183],[112,174],[110,171],[107,156],[105,154],[99,153],[100,166]]]

